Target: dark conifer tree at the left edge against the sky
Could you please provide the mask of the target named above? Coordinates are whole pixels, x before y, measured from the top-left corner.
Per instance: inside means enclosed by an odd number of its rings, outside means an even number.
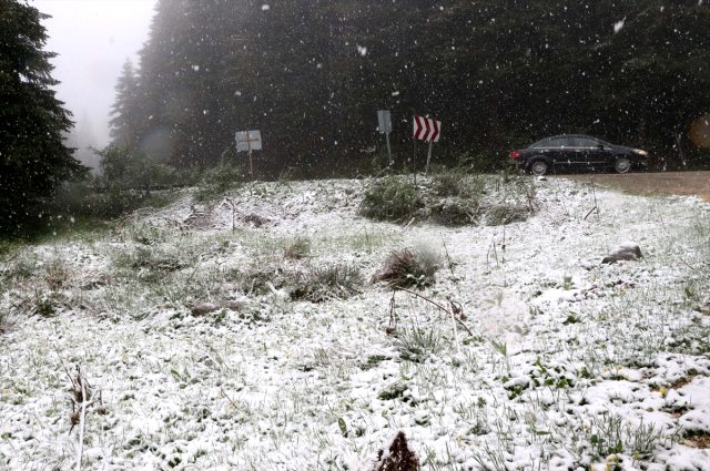
[[[0,0],[0,234],[44,224],[42,203],[84,173],[63,142],[72,122],[51,90],[44,18],[29,4]]]

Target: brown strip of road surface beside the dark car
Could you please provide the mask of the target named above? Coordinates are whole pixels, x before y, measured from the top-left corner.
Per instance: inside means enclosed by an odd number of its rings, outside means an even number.
[[[641,195],[698,195],[710,201],[710,172],[604,173],[560,177],[594,182]]]

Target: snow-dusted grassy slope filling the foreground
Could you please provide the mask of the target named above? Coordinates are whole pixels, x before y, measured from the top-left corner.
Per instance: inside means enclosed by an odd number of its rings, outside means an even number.
[[[372,470],[402,430],[424,470],[710,470],[708,203],[532,181],[527,222],[446,228],[357,216],[367,184],[253,184],[211,207],[187,192],[7,255],[0,469],[75,465],[79,366],[101,396],[83,469]],[[298,240],[308,255],[285,258]],[[628,243],[641,259],[600,263]],[[314,304],[278,283],[369,278],[402,247],[438,253],[419,294],[460,303],[473,336],[382,285]]]

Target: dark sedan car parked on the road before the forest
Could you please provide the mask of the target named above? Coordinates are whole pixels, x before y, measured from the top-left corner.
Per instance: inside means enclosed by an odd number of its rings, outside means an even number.
[[[581,134],[547,137],[527,149],[511,151],[518,167],[535,175],[556,170],[607,170],[627,173],[631,168],[646,168],[648,153],[640,149],[609,144]]]

